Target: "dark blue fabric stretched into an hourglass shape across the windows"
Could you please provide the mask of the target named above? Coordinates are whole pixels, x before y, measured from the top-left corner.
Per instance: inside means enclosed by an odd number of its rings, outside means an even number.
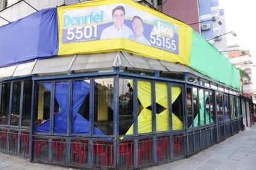
[[[50,90],[49,83],[42,84]],[[55,84],[55,90],[68,91],[67,83]],[[72,104],[72,133],[89,133],[90,122],[81,116],[78,111],[88,94],[90,93],[90,83],[86,81],[73,81],[73,104]],[[65,93],[56,93],[55,98],[61,111],[54,116],[54,133],[67,133],[67,98]],[[89,114],[89,113],[88,113]],[[37,132],[49,132],[50,120],[36,127]],[[98,128],[94,127],[96,135],[104,135]]]

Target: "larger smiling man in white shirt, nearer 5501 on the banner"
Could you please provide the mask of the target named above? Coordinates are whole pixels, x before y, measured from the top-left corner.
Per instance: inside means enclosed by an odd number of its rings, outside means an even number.
[[[124,24],[124,6],[117,6],[112,10],[113,25],[108,26],[102,31],[100,39],[128,38],[132,30]]]

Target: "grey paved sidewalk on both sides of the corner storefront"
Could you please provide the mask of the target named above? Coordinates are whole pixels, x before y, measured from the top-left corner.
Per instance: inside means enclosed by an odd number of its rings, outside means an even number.
[[[9,156],[0,152],[0,170],[66,170],[76,169],[26,161],[21,157]],[[247,128],[218,145],[202,150],[188,159],[181,159],[145,170],[255,170],[256,169],[256,126]]]

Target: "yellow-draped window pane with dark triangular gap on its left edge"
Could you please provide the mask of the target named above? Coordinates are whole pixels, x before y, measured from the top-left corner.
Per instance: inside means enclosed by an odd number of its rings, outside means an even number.
[[[170,130],[168,84],[156,82],[156,131]]]

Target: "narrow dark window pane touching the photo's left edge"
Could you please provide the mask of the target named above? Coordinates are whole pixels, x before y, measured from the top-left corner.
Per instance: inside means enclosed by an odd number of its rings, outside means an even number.
[[[1,112],[0,112],[1,125],[8,125],[10,88],[11,88],[10,82],[6,82],[2,84]]]

